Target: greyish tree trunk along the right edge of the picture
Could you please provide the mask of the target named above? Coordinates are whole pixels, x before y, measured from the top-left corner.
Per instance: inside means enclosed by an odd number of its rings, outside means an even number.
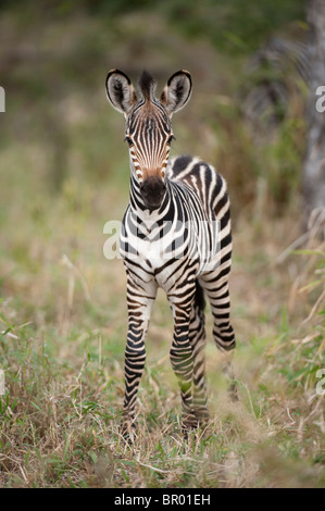
[[[316,217],[318,221],[321,216],[325,217],[325,111],[324,108],[320,109],[321,97],[316,95],[316,91],[320,94],[320,87],[325,86],[325,1],[307,0],[307,18],[312,38],[312,76],[307,105],[308,135],[302,177],[305,224],[309,221],[314,223]],[[322,90],[324,98],[325,90]]]

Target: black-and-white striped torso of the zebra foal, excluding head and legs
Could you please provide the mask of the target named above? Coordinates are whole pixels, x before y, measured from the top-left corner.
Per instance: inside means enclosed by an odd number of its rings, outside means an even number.
[[[134,197],[134,204],[129,204],[123,221],[121,237],[121,254],[130,267],[136,269],[135,278],[142,271],[147,278],[157,278],[166,292],[173,284],[171,276],[178,278],[179,270],[174,270],[177,261],[179,266],[180,261],[185,265],[186,259],[195,260],[196,277],[216,267],[220,223],[223,235],[226,233],[227,241],[230,240],[229,203],[223,177],[192,157],[176,158],[167,175],[168,192],[159,215],[153,219],[152,213],[138,210]],[[132,189],[136,194],[137,182],[133,183]],[[226,249],[230,253],[232,245],[228,244]],[[185,252],[187,258],[180,260]]]

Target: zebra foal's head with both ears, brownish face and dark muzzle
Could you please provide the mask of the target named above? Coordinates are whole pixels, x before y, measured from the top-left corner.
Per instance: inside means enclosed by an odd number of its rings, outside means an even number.
[[[125,116],[132,166],[143,202],[151,210],[161,205],[166,191],[165,175],[174,138],[171,120],[190,98],[191,77],[187,71],[174,73],[160,99],[155,98],[155,87],[154,78],[146,71],[139,78],[138,94],[122,71],[112,70],[107,76],[108,98]]]

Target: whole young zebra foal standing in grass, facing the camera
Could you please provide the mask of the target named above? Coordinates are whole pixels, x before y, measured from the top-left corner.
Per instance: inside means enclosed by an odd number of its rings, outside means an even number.
[[[214,317],[216,346],[225,352],[235,348],[229,322],[232,232],[226,183],[197,158],[168,158],[174,138],[171,119],[190,98],[190,74],[175,73],[160,99],[155,87],[147,72],[140,76],[138,92],[121,71],[110,71],[107,76],[109,101],[126,120],[130,162],[129,204],[120,239],[128,309],[125,434],[132,434],[135,425],[145,338],[158,287],[166,292],[173,311],[170,356],[180,388],[185,432],[209,420],[203,290]],[[229,361],[226,367],[232,377]]]

